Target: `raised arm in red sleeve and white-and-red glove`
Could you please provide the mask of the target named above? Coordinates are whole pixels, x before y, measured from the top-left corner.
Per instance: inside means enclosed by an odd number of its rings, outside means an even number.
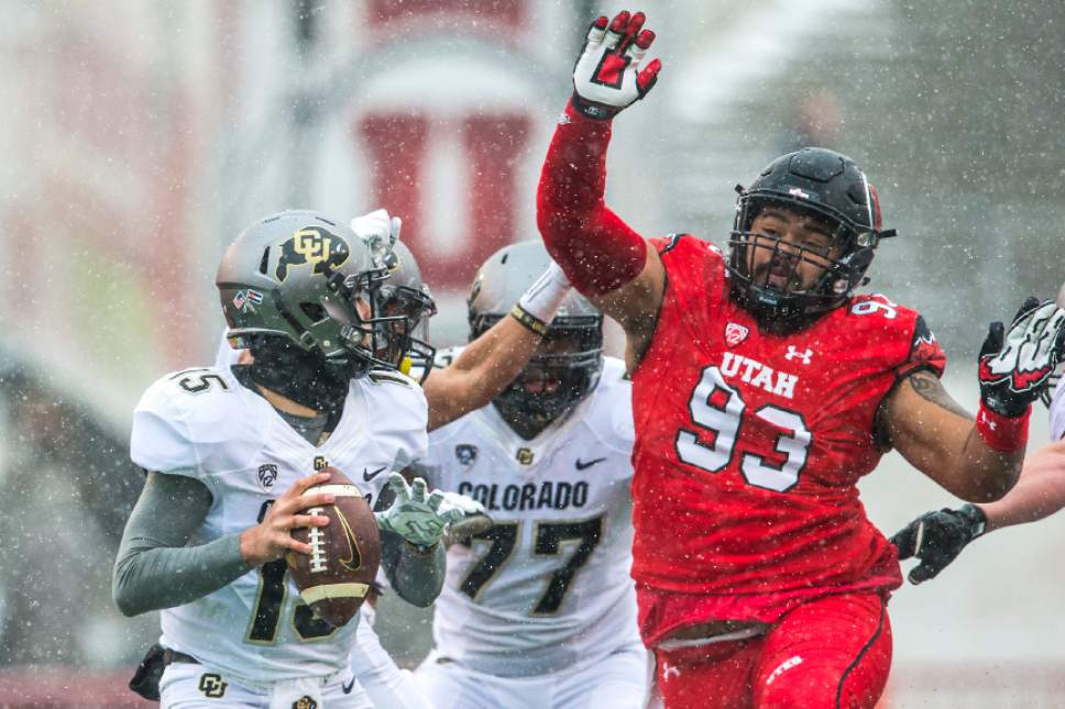
[[[537,225],[548,252],[578,290],[622,324],[630,346],[651,334],[665,269],[603,196],[611,121],[651,89],[661,68],[655,59],[639,69],[655,40],[643,24],[641,12],[621,12],[610,25],[599,18],[590,27],[537,192]]]

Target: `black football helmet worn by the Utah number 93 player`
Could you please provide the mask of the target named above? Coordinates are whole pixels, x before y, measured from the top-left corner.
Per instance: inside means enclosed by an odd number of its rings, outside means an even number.
[[[868,283],[865,273],[880,240],[894,235],[894,230],[880,226],[880,203],[865,173],[849,157],[823,147],[778,157],[750,187],[737,186],[736,191],[736,220],[728,242],[733,297],[765,323],[809,322],[846,302]],[[784,246],[777,236],[751,232],[751,223],[768,204],[825,222],[832,247],[838,248],[836,257],[826,258],[802,245]],[[806,261],[825,269],[810,289],[781,289],[769,284],[768,274],[756,278],[749,273],[756,248],[789,259],[792,268]]]

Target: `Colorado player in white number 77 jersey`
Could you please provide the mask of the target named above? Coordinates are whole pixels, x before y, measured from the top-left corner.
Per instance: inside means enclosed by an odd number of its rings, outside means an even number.
[[[470,296],[471,339],[506,319],[550,263],[538,240],[490,257]],[[571,291],[548,322],[514,383],[433,431],[417,468],[438,488],[480,501],[494,520],[448,550],[435,649],[416,673],[441,707],[645,701],[647,660],[628,576],[629,383],[621,361],[603,357],[603,317],[583,297]]]

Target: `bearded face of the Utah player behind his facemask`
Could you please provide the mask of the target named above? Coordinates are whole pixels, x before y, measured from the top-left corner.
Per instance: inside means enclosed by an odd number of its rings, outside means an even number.
[[[831,226],[780,207],[767,207],[750,224],[747,273],[759,286],[783,292],[812,290],[838,256]]]

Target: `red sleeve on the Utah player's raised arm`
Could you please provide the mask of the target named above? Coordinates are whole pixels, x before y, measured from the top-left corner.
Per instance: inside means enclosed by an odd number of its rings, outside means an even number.
[[[551,257],[586,296],[610,292],[644,269],[644,239],[606,208],[610,121],[566,107],[548,148],[536,198],[536,221]]]

